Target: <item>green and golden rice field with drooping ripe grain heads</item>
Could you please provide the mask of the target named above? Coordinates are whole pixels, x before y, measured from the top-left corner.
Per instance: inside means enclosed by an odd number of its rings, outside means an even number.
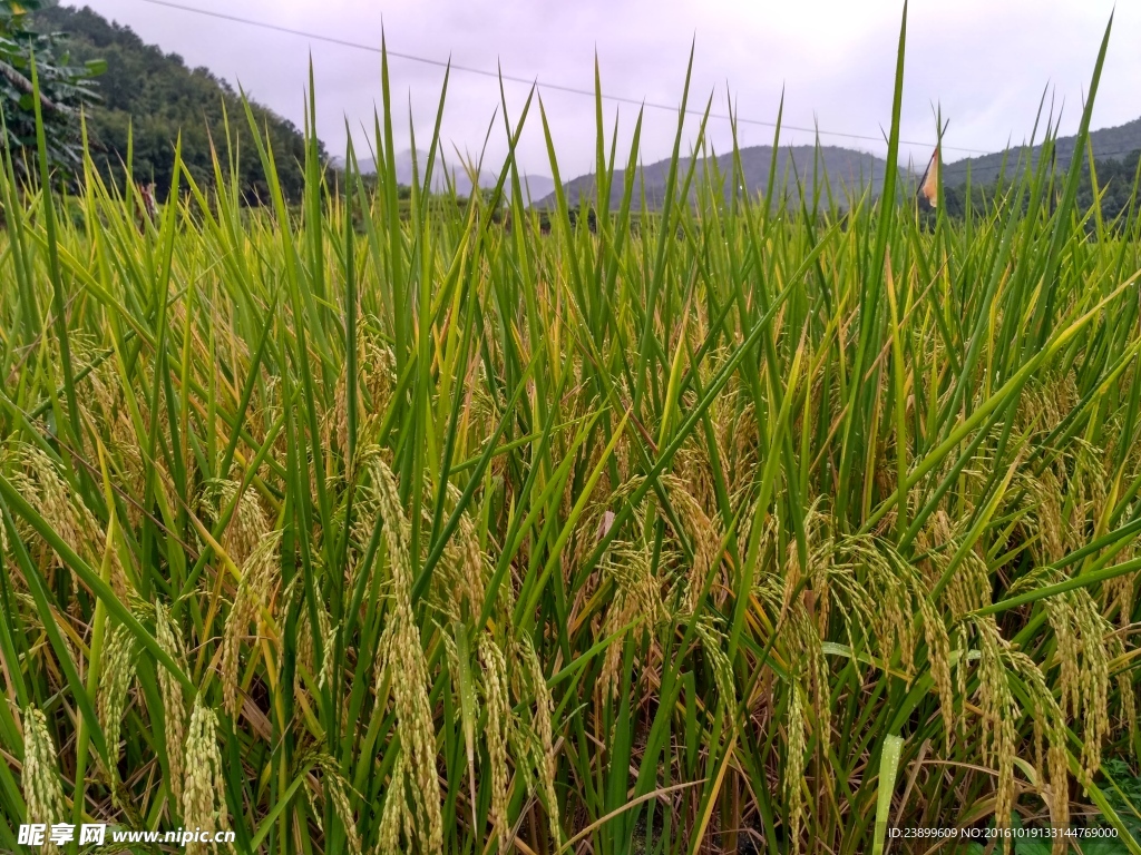
[[[599,100],[548,231],[510,157],[402,205],[383,87],[298,207],[245,117],[272,210],[7,157],[0,848],[1141,853],[1136,206],[727,196],[679,121],[649,212]]]

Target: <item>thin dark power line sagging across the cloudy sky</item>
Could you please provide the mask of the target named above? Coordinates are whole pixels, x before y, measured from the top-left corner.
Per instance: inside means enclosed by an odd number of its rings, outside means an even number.
[[[261,27],[262,30],[273,30],[273,31],[278,32],[278,33],[286,33],[288,35],[299,35],[299,36],[301,36],[304,39],[311,39],[314,41],[322,41],[322,42],[326,42],[329,44],[337,44],[337,46],[342,47],[342,48],[353,48],[355,50],[367,50],[371,54],[380,54],[381,52],[380,48],[374,47],[372,44],[362,44],[361,42],[348,41],[347,39],[338,39],[338,38],[331,36],[331,35],[321,35],[318,33],[310,33],[310,32],[307,32],[305,30],[294,30],[292,27],[281,26],[278,24],[270,24],[270,23],[265,22],[265,21],[256,21],[253,18],[243,18],[243,17],[237,16],[237,15],[227,15],[226,13],[212,11],[210,9],[200,9],[200,8],[195,7],[195,6],[186,6],[184,3],[170,2],[170,0],[140,0],[140,1],[145,2],[145,3],[151,3],[152,6],[164,6],[164,7],[169,8],[169,9],[178,9],[180,11],[193,13],[194,15],[204,15],[207,17],[219,18],[221,21],[232,21],[232,22],[234,22],[236,24],[245,24],[248,26],[257,26],[257,27]],[[395,57],[397,59],[405,59],[405,60],[411,62],[411,63],[422,63],[424,65],[432,65],[432,66],[436,66],[438,68],[448,68],[450,67],[452,71],[463,72],[466,74],[478,74],[479,76],[493,78],[495,80],[504,80],[504,81],[508,81],[510,83],[521,83],[524,85],[534,85],[534,87],[537,87],[540,89],[549,89],[551,91],[567,92],[569,95],[581,95],[581,96],[585,96],[588,98],[593,98],[594,95],[596,95],[594,92],[592,92],[589,89],[580,89],[577,87],[566,85],[564,83],[544,83],[544,82],[541,82],[539,80],[539,78],[528,79],[528,78],[517,76],[517,75],[513,75],[513,74],[503,74],[502,72],[499,72],[499,71],[488,71],[487,68],[476,68],[476,67],[469,66],[469,65],[456,65],[456,64],[451,63],[451,62],[444,62],[443,59],[431,59],[430,57],[416,56],[414,54],[403,54],[403,52],[399,52],[399,51],[396,51],[396,50],[388,50],[387,54],[390,57]],[[615,101],[615,103],[618,103],[618,104],[631,104],[631,105],[633,105],[636,107],[650,107],[653,109],[665,109],[665,111],[669,111],[671,113],[677,113],[678,112],[678,108],[675,106],[670,106],[669,104],[655,104],[654,101],[638,100],[637,98],[626,98],[626,97],[623,97],[621,95],[602,95],[601,97],[602,97],[604,100]],[[696,109],[687,109],[686,113],[688,115],[695,115],[695,116],[704,115],[704,113],[702,113],[701,111],[696,111]],[[710,119],[718,119],[718,120],[722,120],[722,121],[734,121],[734,120],[736,120],[736,122],[739,123],[739,124],[752,124],[752,125],[758,125],[758,127],[761,127],[761,128],[774,128],[775,129],[777,127],[776,122],[766,122],[766,121],[760,120],[760,119],[744,119],[742,116],[728,116],[728,115],[725,115],[722,113],[710,113]],[[826,130],[820,130],[819,128],[803,128],[803,127],[795,125],[795,124],[786,124],[784,122],[780,123],[780,127],[784,130],[802,131],[802,132],[806,132],[806,133],[815,133],[815,135],[819,135],[819,136],[823,136],[823,137],[842,137],[844,139],[858,139],[858,140],[871,141],[871,142],[884,142],[885,141],[882,137],[872,137],[872,136],[868,136],[868,135],[865,135],[865,133],[848,133],[845,131],[826,131]],[[929,141],[916,141],[916,140],[907,140],[907,139],[901,139],[899,141],[900,141],[900,144],[907,145],[907,146],[928,146],[928,147],[934,147],[934,144],[933,142],[929,142]],[[953,152],[965,152],[968,154],[977,154],[977,155],[990,154],[989,152],[985,152],[985,150],[979,149],[979,148],[963,148],[963,147],[960,147],[960,146],[948,146],[948,145],[944,145],[944,149],[946,149],[946,150],[953,150]]]

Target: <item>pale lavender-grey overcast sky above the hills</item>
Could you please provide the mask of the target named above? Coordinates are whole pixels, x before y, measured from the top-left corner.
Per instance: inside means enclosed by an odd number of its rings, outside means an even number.
[[[67,2],[68,0],[64,0]],[[604,95],[677,107],[690,43],[695,44],[691,105],[726,112],[727,92],[745,120],[772,122],[782,89],[788,125],[880,137],[891,119],[892,75],[903,6],[879,0],[176,0],[225,15],[270,22],[314,34],[378,46],[381,28],[391,51],[567,87],[593,89],[596,51]],[[318,131],[330,153],[342,153],[346,120],[361,145],[381,98],[380,58],[374,52],[299,35],[220,21],[145,0],[87,0],[100,14],[132,27],[145,41],[205,65],[298,125],[311,52],[317,83]],[[950,120],[945,160],[965,150],[992,152],[1026,138],[1043,91],[1065,104],[1062,130],[1073,132],[1089,90],[1112,2],[1110,0],[913,0],[907,24],[903,137],[934,139],[932,105]],[[1141,2],[1117,6],[1093,127],[1141,115],[1139,81]],[[408,145],[408,109],[423,147],[435,122],[443,70],[390,58],[398,145]],[[528,88],[507,83],[512,121]],[[563,180],[590,171],[594,160],[592,98],[542,90]],[[488,157],[502,158],[505,132],[499,82],[453,72],[443,125],[447,152],[478,154],[495,117]],[[537,107],[537,105],[535,105]],[[629,145],[638,108],[605,105],[607,139],[615,116],[620,146]],[[696,121],[687,123],[687,141]],[[642,160],[667,156],[677,113],[647,108]],[[712,120],[718,150],[729,144],[728,123]],[[772,129],[743,123],[742,146],[771,142]],[[876,140],[820,137],[882,154]],[[811,142],[786,130],[783,144]],[[629,150],[629,149],[628,149]],[[901,157],[925,161],[930,148],[905,146]],[[620,154],[620,160],[625,156]],[[537,109],[528,116],[520,162],[551,174]]]

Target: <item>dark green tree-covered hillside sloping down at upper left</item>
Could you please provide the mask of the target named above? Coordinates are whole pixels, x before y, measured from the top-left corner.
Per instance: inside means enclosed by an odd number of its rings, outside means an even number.
[[[194,180],[213,186],[211,139],[219,160],[229,169],[226,116],[238,155],[236,178],[250,203],[265,202],[269,187],[250,133],[241,97],[207,68],[188,68],[177,54],[146,44],[127,26],[111,23],[88,7],[55,6],[34,15],[41,32],[70,36],[73,62],[106,60],[106,72],[95,81],[99,101],[86,109],[91,153],[104,179],[122,188],[130,137],[131,178],[155,184],[165,198],[173,177],[175,144],[183,138],[181,158]],[[301,197],[305,140],[290,121],[261,105],[253,115],[274,149],[282,190],[290,201]],[[324,148],[321,148],[324,160]]]

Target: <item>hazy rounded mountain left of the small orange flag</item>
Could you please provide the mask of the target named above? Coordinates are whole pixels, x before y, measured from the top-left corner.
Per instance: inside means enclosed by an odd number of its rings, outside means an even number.
[[[726,179],[733,174],[733,154],[722,154],[715,158],[717,169]],[[769,169],[772,162],[771,146],[751,146],[741,149],[741,165],[744,172],[744,186],[752,193],[767,193]],[[679,164],[679,180],[689,166],[689,158],[682,158]],[[817,179],[817,168],[819,178]],[[703,164],[697,165],[701,174]],[[844,202],[848,196],[863,194],[869,190],[872,196],[879,196],[883,188],[883,177],[887,174],[888,163],[882,157],[876,157],[866,152],[857,152],[851,148],[839,146],[783,146],[777,149],[776,180],[778,187],[784,187],[787,193],[793,193],[796,182],[811,193],[814,182],[819,180],[823,185],[825,179],[832,188],[834,196],[839,196]],[[659,207],[665,197],[665,185],[670,172],[670,161],[663,160],[642,166],[639,170],[639,180],[634,182],[634,201],[640,204],[642,186],[645,186],[646,203],[649,207]],[[900,177],[904,172],[900,171]],[[613,184],[610,185],[610,206],[617,207],[622,202],[623,184],[625,173],[615,170]],[[730,192],[726,187],[726,193]],[[585,196],[590,198],[594,194],[594,176],[580,176],[564,186],[567,195],[567,204],[577,206]],[[536,206],[552,207],[555,205],[553,194],[540,199]]]

